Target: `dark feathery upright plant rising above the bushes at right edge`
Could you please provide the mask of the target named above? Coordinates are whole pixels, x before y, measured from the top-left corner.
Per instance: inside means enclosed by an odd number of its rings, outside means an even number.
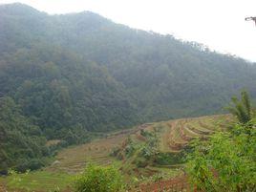
[[[250,99],[247,92],[241,93],[241,100],[237,97],[232,97],[233,106],[229,106],[227,110],[238,118],[239,122],[247,123],[251,120]]]

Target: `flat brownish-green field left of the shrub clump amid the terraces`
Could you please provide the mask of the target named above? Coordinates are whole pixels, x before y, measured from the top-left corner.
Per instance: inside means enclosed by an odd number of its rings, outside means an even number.
[[[124,134],[120,134],[65,149],[57,155],[56,160],[47,169],[75,174],[82,171],[88,161],[104,165],[113,163],[116,160],[110,157],[110,153],[114,147],[123,142],[125,137]]]

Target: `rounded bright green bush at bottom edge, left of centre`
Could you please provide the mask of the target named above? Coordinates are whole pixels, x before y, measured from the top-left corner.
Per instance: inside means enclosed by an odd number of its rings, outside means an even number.
[[[75,178],[76,192],[117,192],[124,188],[120,173],[114,167],[89,164],[84,172]]]

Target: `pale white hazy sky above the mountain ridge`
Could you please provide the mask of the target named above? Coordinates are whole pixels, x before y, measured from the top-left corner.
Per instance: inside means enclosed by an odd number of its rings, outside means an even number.
[[[133,28],[197,41],[256,62],[256,0],[0,0],[48,13],[95,11]],[[1,27],[1,26],[0,26]]]

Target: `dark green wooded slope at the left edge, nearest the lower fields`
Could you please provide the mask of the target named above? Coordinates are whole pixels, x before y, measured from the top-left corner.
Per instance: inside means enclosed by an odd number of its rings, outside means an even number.
[[[7,174],[9,167],[25,172],[45,164],[49,156],[46,139],[38,126],[33,125],[11,97],[0,98],[0,173]]]

